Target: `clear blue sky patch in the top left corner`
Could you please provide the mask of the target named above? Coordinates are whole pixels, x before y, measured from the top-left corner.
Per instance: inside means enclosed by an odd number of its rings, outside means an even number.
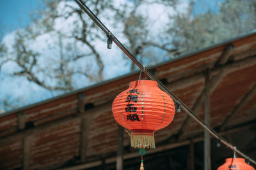
[[[31,24],[29,14],[43,8],[43,0],[0,0],[0,36]]]

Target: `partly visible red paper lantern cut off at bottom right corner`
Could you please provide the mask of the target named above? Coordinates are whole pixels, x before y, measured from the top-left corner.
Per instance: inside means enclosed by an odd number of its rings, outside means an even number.
[[[243,158],[228,158],[225,164],[218,167],[217,170],[255,170],[252,166],[246,164]]]

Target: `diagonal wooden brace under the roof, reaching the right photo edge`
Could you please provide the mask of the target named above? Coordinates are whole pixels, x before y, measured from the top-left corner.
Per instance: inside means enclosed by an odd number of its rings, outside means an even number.
[[[256,83],[253,84],[253,87],[243,96],[243,98],[237,104],[237,106],[234,108],[234,110],[232,110],[230,112],[230,114],[227,115],[225,120],[223,120],[223,123],[220,126],[220,131],[225,130],[225,128],[228,126],[228,123],[230,123],[232,118],[234,118],[237,115],[237,113],[239,113],[241,111],[243,106],[246,103],[248,103],[248,101],[250,101],[250,99],[252,99],[252,97],[255,96],[255,94],[256,94]]]

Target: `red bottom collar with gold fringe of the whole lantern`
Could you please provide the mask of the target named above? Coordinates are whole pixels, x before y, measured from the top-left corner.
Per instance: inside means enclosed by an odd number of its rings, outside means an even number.
[[[132,148],[156,148],[154,131],[132,131],[131,146]]]

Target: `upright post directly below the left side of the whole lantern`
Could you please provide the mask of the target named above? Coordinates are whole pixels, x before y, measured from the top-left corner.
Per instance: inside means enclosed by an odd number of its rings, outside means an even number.
[[[123,170],[124,128],[118,125],[118,145],[116,157],[116,170]]]

